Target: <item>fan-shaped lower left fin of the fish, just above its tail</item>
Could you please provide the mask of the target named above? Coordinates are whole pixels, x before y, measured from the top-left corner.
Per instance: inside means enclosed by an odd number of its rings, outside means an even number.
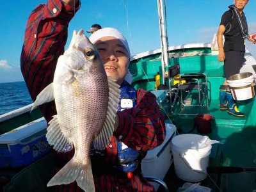
[[[54,115],[49,122],[46,138],[48,143],[53,145],[54,150],[58,152],[68,152],[73,149],[73,143],[68,141],[67,137],[65,137],[60,129],[57,115]]]

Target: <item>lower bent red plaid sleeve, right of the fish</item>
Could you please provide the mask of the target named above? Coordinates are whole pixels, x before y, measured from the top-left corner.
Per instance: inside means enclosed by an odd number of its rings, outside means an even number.
[[[128,147],[147,152],[163,143],[166,135],[164,117],[154,94],[139,89],[137,105],[132,109],[118,111],[117,114],[119,126],[115,136]]]

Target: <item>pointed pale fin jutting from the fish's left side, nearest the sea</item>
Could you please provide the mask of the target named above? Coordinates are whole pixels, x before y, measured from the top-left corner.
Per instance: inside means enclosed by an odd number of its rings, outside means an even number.
[[[54,90],[53,90],[53,83],[49,84],[47,87],[42,90],[37,96],[36,100],[31,108],[31,111],[35,109],[35,107],[44,104],[45,102],[50,102],[54,100]]]

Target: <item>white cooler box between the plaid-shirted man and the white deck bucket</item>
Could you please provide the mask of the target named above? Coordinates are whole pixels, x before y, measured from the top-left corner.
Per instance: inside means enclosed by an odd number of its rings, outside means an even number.
[[[149,150],[147,156],[141,161],[141,171],[145,177],[156,177],[163,180],[173,163],[171,141],[173,136],[176,136],[176,126],[168,123],[165,124],[165,127],[166,138],[164,142],[153,150]],[[159,184],[150,183],[156,190],[158,189]]]

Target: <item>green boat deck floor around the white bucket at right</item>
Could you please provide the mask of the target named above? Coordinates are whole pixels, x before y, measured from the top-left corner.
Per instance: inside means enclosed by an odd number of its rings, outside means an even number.
[[[252,123],[252,111],[255,109],[255,100],[239,103],[245,117],[229,115],[227,111],[220,111],[219,100],[211,100],[209,108],[204,108],[203,113],[214,116],[212,132],[208,134],[211,140],[223,142],[212,145],[209,166],[237,166],[255,168],[256,170],[256,127]],[[195,113],[195,107],[185,107],[182,113]],[[170,115],[177,126],[177,130],[189,132],[194,125],[191,115]],[[196,129],[191,132],[198,134]],[[164,182],[170,191],[177,191],[184,180],[179,179],[174,172],[174,165],[170,167]],[[202,186],[212,188],[212,191],[256,191],[256,172],[240,173],[209,173]],[[158,191],[163,191],[159,188]]]

